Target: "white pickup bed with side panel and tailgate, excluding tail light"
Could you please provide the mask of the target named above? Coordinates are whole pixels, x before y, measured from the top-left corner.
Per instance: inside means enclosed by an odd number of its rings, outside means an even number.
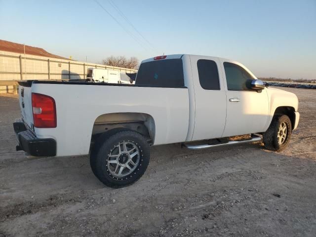
[[[185,86],[158,87],[51,80],[28,80],[20,81],[19,84],[24,122],[33,129],[38,138],[56,140],[57,156],[88,154],[94,123],[105,114],[140,113],[150,116],[155,126],[154,145],[183,142],[187,138],[189,92]],[[24,97],[21,96],[22,90]],[[56,128],[32,126],[31,93],[54,98]]]

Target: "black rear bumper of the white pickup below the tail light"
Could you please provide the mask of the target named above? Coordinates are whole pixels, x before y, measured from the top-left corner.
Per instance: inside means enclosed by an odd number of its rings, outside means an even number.
[[[18,141],[16,150],[23,150],[36,157],[56,156],[56,141],[52,138],[37,138],[28,130],[22,120],[15,121],[13,128]]]

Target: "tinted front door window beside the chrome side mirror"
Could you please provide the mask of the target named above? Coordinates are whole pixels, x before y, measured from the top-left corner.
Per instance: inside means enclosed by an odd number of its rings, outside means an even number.
[[[246,70],[234,63],[224,62],[228,90],[251,90],[254,79]]]

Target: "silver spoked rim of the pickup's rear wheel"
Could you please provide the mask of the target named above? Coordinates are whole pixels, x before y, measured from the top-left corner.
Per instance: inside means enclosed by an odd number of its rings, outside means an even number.
[[[108,155],[107,170],[116,178],[124,178],[136,169],[139,160],[137,146],[132,142],[121,142]]]

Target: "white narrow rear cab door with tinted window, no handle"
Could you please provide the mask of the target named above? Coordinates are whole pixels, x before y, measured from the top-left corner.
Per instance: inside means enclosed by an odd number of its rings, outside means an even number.
[[[195,127],[192,140],[221,137],[226,122],[226,91],[216,57],[190,55],[195,89]]]

